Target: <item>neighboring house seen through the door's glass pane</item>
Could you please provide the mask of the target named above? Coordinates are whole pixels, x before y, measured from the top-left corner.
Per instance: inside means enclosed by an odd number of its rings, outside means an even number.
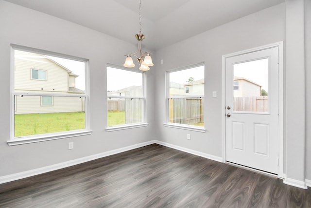
[[[234,97],[261,96],[261,85],[243,77],[235,76],[233,79]]]

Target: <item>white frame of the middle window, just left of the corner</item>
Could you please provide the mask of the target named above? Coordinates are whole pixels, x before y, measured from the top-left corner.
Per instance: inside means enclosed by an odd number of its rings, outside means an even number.
[[[139,97],[133,97],[133,96],[123,96],[123,95],[114,95],[114,96],[107,96],[106,94],[106,100],[108,100],[108,98],[134,98],[134,99],[142,99],[142,122],[141,123],[131,123],[131,124],[122,124],[122,125],[116,125],[116,126],[109,126],[106,127],[106,132],[112,132],[112,131],[118,131],[118,130],[123,130],[123,129],[132,129],[132,128],[138,128],[138,127],[145,127],[148,126],[147,123],[147,109],[146,109],[146,86],[147,86],[147,81],[146,81],[146,73],[142,72],[140,70],[137,69],[128,69],[125,67],[121,67],[121,66],[117,66],[117,65],[113,65],[113,64],[107,64],[107,67],[111,67],[111,68],[116,68],[116,69],[121,69],[121,70],[125,70],[125,71],[130,71],[130,72],[137,72],[137,73],[141,73],[142,74],[142,96]],[[108,78],[108,77],[106,77]],[[108,106],[106,109],[107,115],[106,115],[106,122],[108,124]]]

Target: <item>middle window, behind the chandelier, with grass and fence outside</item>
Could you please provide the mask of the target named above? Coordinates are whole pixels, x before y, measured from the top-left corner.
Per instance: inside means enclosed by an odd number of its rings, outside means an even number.
[[[145,73],[107,67],[107,131],[145,121]]]

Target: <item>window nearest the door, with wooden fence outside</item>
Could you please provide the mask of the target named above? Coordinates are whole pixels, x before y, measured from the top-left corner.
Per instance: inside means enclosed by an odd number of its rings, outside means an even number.
[[[204,65],[167,73],[167,124],[204,127]]]

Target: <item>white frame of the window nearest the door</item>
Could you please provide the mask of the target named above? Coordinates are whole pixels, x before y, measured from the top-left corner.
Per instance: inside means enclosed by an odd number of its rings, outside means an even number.
[[[183,130],[189,130],[189,131],[195,131],[195,132],[206,132],[205,123],[204,123],[203,127],[200,127],[200,126],[195,126],[195,125],[178,124],[178,123],[169,122],[170,121],[170,118],[169,118],[169,116],[170,116],[169,99],[202,97],[202,99],[204,100],[204,103],[205,103],[205,98],[204,98],[205,95],[188,95],[188,96],[172,96],[172,97],[170,96],[170,73],[182,71],[182,70],[186,70],[186,69],[191,69],[191,68],[195,68],[195,67],[199,67],[199,66],[205,66],[204,62],[194,64],[194,65],[190,65],[187,67],[181,67],[178,69],[166,71],[166,76],[165,76],[165,80],[166,80],[166,87],[165,87],[165,90],[166,90],[166,119],[165,119],[165,123],[163,124],[165,127],[171,127],[171,128],[177,128],[177,129],[183,129]],[[204,73],[204,76],[205,76],[205,73]],[[204,108],[204,106],[203,106],[203,108]],[[203,112],[205,112],[205,110]],[[203,115],[203,116],[205,117],[205,115]]]

